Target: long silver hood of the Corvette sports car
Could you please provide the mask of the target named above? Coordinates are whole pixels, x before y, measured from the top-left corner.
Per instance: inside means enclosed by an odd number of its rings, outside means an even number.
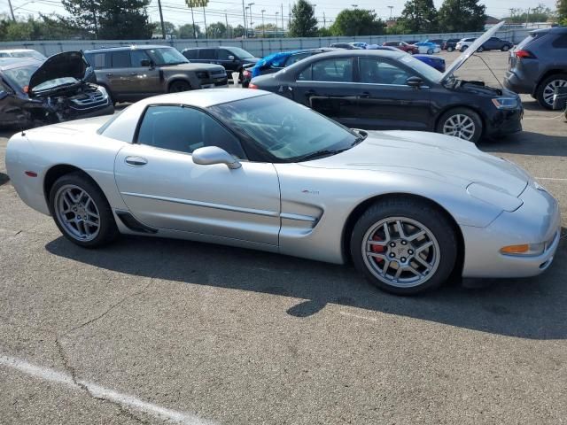
[[[369,131],[367,138],[338,155],[301,163],[321,168],[414,174],[450,185],[482,183],[517,197],[530,181],[515,164],[479,151],[474,143],[416,131]]]

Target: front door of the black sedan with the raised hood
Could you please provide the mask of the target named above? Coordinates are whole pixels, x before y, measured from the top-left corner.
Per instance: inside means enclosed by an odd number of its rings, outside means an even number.
[[[403,58],[402,60],[416,60]],[[386,58],[361,57],[359,127],[367,129],[426,130],[430,123],[430,90],[408,86],[417,76],[407,66]]]

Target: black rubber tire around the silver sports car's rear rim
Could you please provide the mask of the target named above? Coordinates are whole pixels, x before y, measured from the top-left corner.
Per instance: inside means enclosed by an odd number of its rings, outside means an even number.
[[[99,216],[98,233],[97,236],[91,240],[80,240],[73,236],[60,221],[60,214],[56,211],[56,202],[58,201],[56,197],[59,189],[69,185],[76,186],[84,190],[96,205]],[[89,176],[81,172],[65,174],[59,177],[53,184],[50,189],[50,213],[63,236],[84,248],[97,248],[99,246],[103,246],[106,243],[112,242],[119,235],[116,222],[114,221],[113,211],[106,200],[105,194],[98,188],[97,184],[89,178]]]

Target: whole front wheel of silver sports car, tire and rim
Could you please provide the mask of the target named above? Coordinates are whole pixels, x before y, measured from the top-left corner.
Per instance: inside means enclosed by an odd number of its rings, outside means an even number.
[[[445,282],[454,269],[457,242],[444,214],[412,199],[384,199],[353,228],[354,266],[378,288],[414,295]]]

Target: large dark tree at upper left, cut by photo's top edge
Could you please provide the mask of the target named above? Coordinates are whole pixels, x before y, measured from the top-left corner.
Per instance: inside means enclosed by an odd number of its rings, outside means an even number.
[[[61,0],[76,27],[108,40],[150,38],[150,0]]]

